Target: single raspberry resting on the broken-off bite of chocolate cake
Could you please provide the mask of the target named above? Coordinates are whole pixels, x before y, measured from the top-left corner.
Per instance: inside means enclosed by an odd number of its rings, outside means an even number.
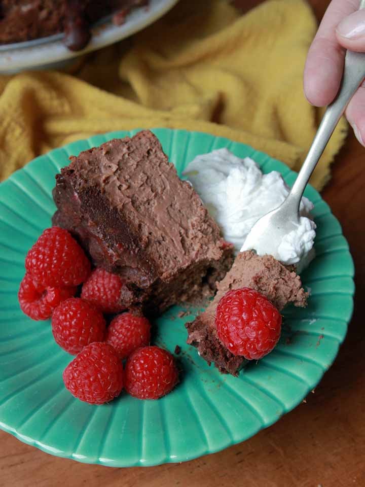
[[[280,338],[281,315],[261,293],[249,288],[228,291],[215,314],[218,338],[233,355],[258,360]]]

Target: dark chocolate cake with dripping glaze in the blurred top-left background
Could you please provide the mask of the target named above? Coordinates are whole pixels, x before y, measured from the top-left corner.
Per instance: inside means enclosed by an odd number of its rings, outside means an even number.
[[[148,0],[0,0],[0,44],[17,43],[64,32],[68,49],[83,49],[90,26],[115,13],[120,25],[130,9]]]

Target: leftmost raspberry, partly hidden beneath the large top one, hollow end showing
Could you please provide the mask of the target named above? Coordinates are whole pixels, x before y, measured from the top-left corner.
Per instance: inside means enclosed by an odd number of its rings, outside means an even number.
[[[53,288],[37,283],[25,274],[20,283],[18,300],[23,313],[32,320],[48,320],[61,301],[76,294],[77,287]]]

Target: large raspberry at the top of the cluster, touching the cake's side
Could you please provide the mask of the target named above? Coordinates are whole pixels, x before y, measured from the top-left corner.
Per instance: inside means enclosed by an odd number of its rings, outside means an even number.
[[[78,242],[59,227],[46,228],[25,258],[27,272],[45,286],[78,286],[90,262]]]

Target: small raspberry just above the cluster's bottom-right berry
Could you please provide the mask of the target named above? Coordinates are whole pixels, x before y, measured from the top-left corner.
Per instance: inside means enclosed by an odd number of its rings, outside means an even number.
[[[108,326],[105,341],[114,347],[120,359],[126,359],[134,350],[150,343],[150,329],[147,318],[123,313]]]

